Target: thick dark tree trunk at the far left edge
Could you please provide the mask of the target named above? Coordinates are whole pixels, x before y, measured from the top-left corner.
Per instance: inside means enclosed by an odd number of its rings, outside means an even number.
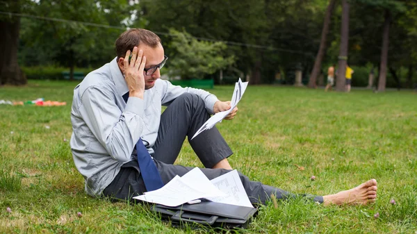
[[[19,1],[9,1],[10,11],[20,12]],[[27,79],[17,63],[19,44],[19,17],[1,17],[0,19],[0,84],[26,85]]]

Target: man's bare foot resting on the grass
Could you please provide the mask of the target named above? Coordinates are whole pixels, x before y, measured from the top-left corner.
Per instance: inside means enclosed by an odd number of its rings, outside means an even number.
[[[345,190],[336,194],[326,195],[323,197],[324,204],[336,204],[336,205],[355,205],[372,203],[377,198],[377,181],[375,178],[366,181],[365,183],[354,187],[351,190]]]

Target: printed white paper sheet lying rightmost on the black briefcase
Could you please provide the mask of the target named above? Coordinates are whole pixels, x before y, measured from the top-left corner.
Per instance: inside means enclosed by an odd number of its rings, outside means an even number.
[[[250,200],[247,197],[242,181],[240,181],[238,171],[233,170],[227,174],[213,178],[211,183],[218,187],[220,191],[227,193],[226,197],[211,198],[211,201],[253,208],[252,203],[250,203]]]

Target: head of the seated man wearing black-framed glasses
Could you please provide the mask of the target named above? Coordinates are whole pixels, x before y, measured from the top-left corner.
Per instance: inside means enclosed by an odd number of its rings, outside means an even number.
[[[148,72],[144,72],[145,77],[145,89],[154,87],[154,81],[161,77],[159,67],[165,59],[161,39],[155,33],[142,28],[132,28],[125,31],[116,40],[116,53],[117,53],[117,65],[119,65],[120,71],[124,73],[124,57],[127,51],[133,51],[133,47],[138,47],[138,51],[143,51],[143,56],[146,57],[145,69],[149,69]],[[152,73],[153,72],[153,73]]]

